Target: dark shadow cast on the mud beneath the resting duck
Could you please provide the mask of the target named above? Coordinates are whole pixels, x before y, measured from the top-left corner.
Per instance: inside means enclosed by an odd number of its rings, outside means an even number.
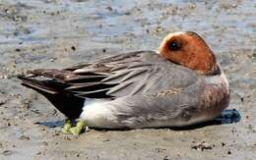
[[[195,129],[203,128],[206,126],[233,124],[233,123],[239,122],[240,120],[241,120],[241,116],[237,110],[226,109],[221,113],[220,116],[216,117],[212,121],[207,121],[207,122],[199,123],[196,125],[190,125],[187,127],[171,127],[171,128],[158,128],[158,129],[170,129],[170,130],[174,130],[174,131],[188,131],[188,130],[195,130]],[[40,125],[40,126],[45,126],[48,128],[60,128],[60,127],[63,127],[64,121],[37,122],[35,124]],[[123,129],[122,130],[96,129],[96,130],[98,130],[98,131],[123,131]],[[127,130],[127,129],[125,129],[125,130]]]

